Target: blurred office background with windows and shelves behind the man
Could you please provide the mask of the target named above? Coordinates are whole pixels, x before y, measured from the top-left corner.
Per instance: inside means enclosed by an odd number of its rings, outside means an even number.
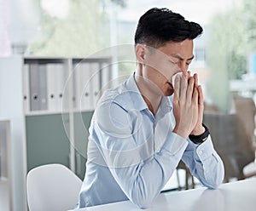
[[[27,209],[26,174],[40,165],[83,180],[96,100],[135,70],[137,20],[153,7],[203,27],[189,69],[224,182],[256,174],[255,0],[0,0],[0,210]],[[180,163],[165,190],[197,186]]]

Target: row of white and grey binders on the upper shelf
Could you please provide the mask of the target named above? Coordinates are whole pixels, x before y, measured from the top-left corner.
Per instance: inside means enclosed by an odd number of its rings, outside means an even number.
[[[70,70],[71,69],[71,70]],[[67,109],[92,111],[109,88],[111,67],[106,60],[26,62],[23,74],[24,110],[61,112]]]

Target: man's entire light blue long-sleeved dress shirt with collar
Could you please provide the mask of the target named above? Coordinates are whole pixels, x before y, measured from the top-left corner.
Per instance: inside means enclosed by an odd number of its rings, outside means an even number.
[[[182,159],[208,188],[224,180],[224,165],[211,137],[201,145],[172,133],[172,97],[163,97],[155,116],[132,75],[107,90],[90,123],[86,173],[79,208],[131,200],[147,208]]]

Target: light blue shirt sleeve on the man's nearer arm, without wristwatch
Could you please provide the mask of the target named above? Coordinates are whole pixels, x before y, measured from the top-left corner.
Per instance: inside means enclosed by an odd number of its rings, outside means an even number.
[[[170,130],[162,147],[151,153],[152,143],[137,145],[142,139],[134,135],[137,127],[118,104],[104,102],[96,109],[93,129],[105,163],[131,202],[147,208],[171,178],[188,140]]]

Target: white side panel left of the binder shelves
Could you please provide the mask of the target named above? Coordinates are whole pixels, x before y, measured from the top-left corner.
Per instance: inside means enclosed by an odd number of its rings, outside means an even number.
[[[25,118],[21,57],[0,58],[0,119],[10,120],[13,210],[26,210]]]

